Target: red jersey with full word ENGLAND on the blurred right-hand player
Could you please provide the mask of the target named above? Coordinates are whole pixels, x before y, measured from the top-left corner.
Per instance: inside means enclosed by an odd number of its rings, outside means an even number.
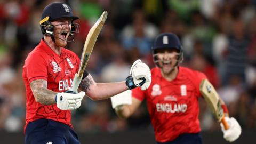
[[[198,133],[198,97],[203,73],[179,67],[173,81],[162,77],[159,68],[151,69],[152,81],[149,88],[132,90],[132,96],[142,101],[146,99],[157,142],[172,141],[183,133]]]

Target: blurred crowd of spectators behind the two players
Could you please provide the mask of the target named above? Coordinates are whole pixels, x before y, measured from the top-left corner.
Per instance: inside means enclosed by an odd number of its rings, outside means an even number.
[[[26,95],[22,66],[43,37],[39,28],[43,8],[53,1],[0,0],[0,131],[22,132]],[[79,19],[80,31],[67,48],[79,57],[90,27],[108,11],[87,66],[96,82],[124,81],[133,61],[155,67],[151,45],[162,32],[177,34],[185,61],[202,71],[226,102],[230,116],[243,130],[256,129],[256,0],[70,0],[62,1]],[[203,131],[219,130],[203,99]],[[149,130],[146,103],[125,120],[109,99],[84,98],[74,110],[78,132]]]

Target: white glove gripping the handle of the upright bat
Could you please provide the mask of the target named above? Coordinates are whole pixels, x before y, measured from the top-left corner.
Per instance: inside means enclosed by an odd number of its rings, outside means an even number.
[[[58,93],[55,97],[57,107],[61,110],[74,110],[81,106],[81,101],[85,92],[74,93],[72,91],[65,91]]]

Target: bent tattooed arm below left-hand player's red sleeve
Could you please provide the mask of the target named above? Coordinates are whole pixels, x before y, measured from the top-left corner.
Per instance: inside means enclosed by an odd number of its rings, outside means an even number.
[[[37,79],[30,83],[30,88],[33,92],[36,102],[42,105],[52,105],[55,102],[55,95],[57,92],[47,89],[47,81],[44,79]]]

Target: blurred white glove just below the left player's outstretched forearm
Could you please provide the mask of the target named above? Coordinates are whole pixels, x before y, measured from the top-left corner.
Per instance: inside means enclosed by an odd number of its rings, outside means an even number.
[[[116,108],[120,105],[131,105],[132,104],[132,91],[127,90],[122,93],[119,93],[110,98],[112,103],[112,108]]]

